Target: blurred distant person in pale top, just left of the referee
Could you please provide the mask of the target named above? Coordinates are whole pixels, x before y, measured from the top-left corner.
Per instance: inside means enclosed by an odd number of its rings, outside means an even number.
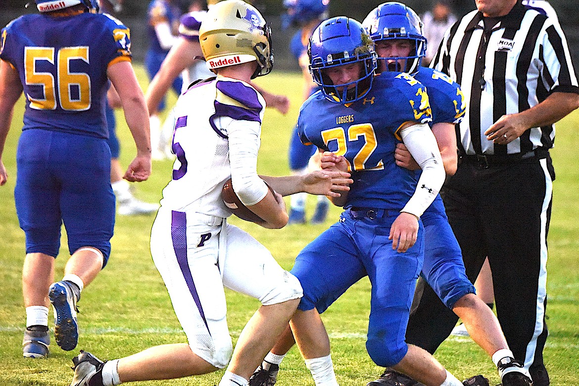
[[[456,16],[450,8],[452,0],[434,0],[432,10],[422,16],[424,23],[424,38],[428,41],[424,55],[424,65],[427,66],[436,55],[438,45],[444,38],[444,33],[456,23]]]

